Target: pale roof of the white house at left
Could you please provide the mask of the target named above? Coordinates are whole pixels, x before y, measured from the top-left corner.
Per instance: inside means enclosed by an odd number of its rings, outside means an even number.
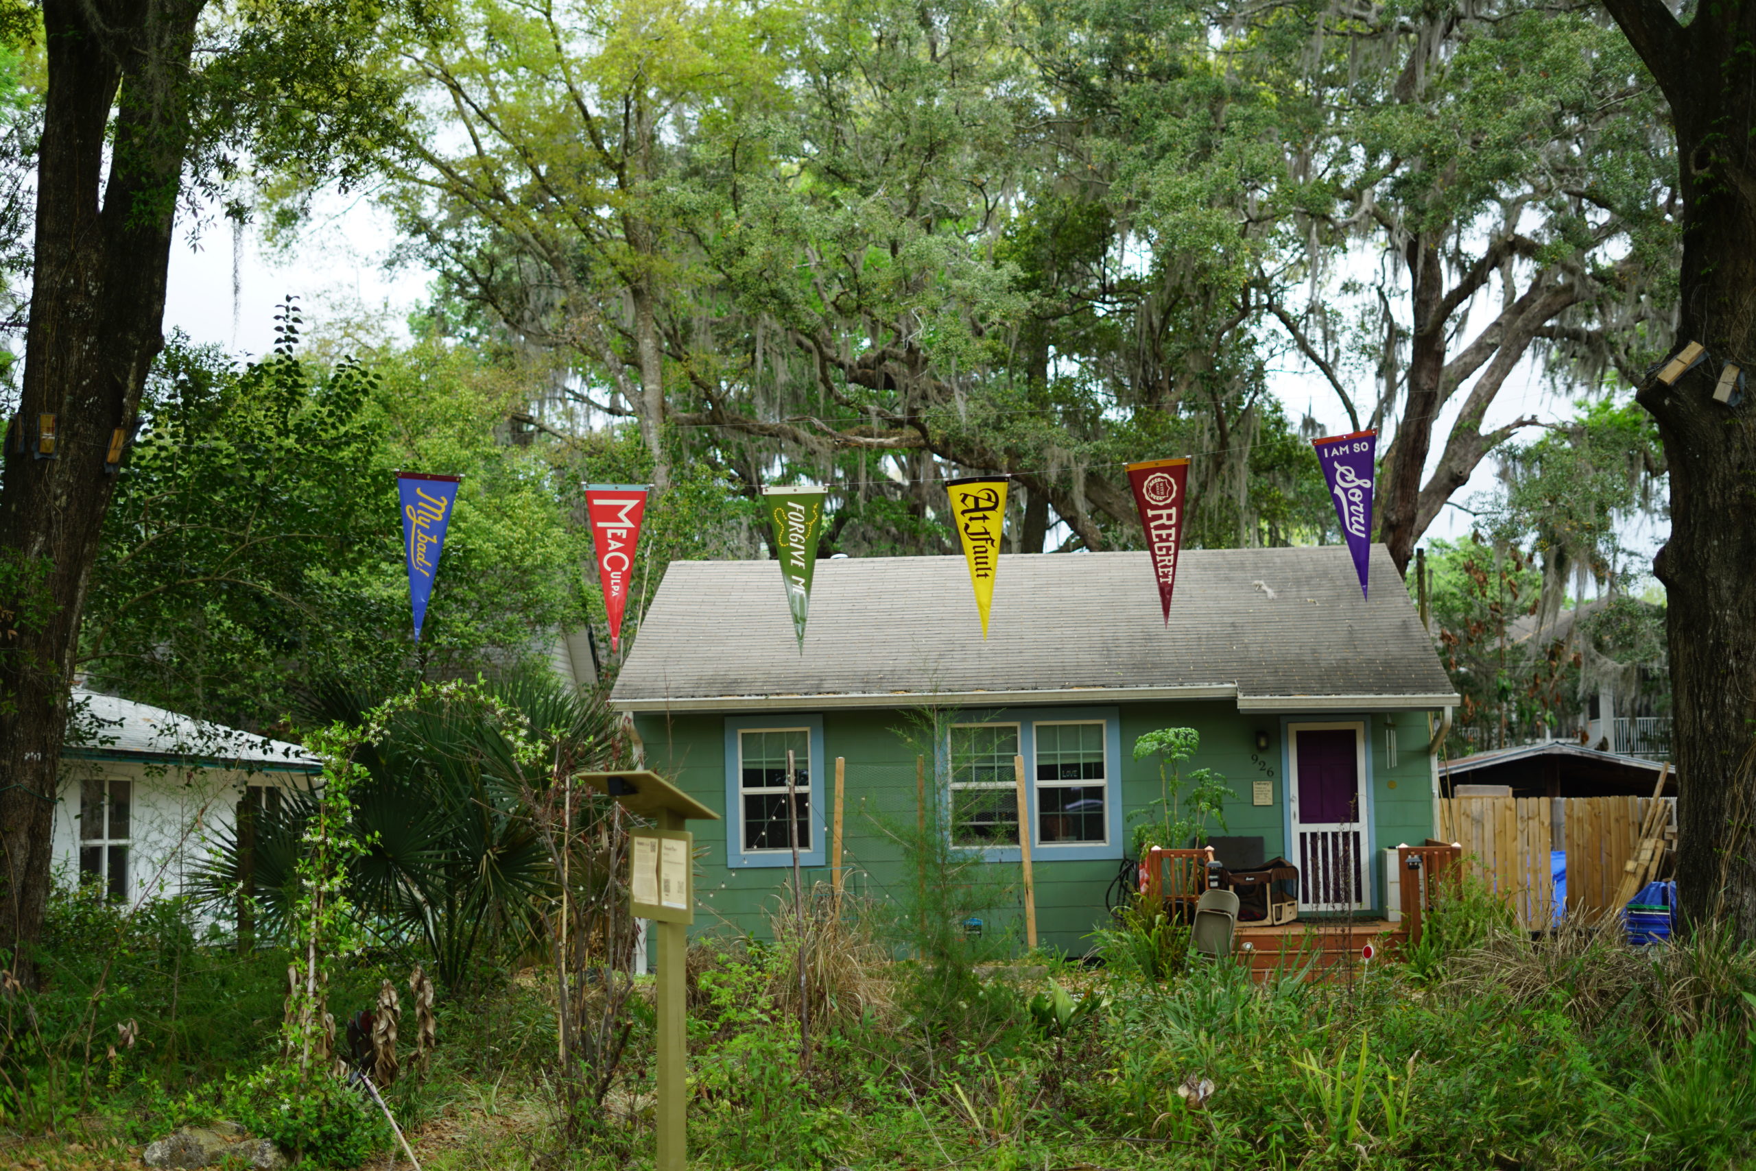
[[[299,744],[116,695],[74,692],[72,711],[67,757],[179,760],[251,772],[316,772],[323,764]]]

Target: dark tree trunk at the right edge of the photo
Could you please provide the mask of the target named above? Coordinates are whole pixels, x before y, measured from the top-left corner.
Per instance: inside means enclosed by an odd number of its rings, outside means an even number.
[[[1679,26],[1658,0],[1607,0],[1670,100],[1682,190],[1679,346],[1710,358],[1638,402],[1670,465],[1668,595],[1677,895],[1684,918],[1756,939],[1756,395],[1714,402],[1756,365],[1756,5],[1703,5]]]

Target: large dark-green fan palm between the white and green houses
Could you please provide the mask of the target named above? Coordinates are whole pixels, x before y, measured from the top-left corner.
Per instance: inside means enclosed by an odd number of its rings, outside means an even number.
[[[536,730],[544,760],[558,755],[585,769],[615,757],[615,716],[599,697],[546,674],[495,679],[483,692]],[[356,725],[378,699],[320,683],[300,716]],[[469,702],[393,716],[356,760],[367,779],[353,794],[353,830],[367,848],[349,867],[348,897],[379,943],[423,952],[451,987],[469,983],[493,950],[534,943],[558,876],[527,797],[550,785],[551,771],[522,764],[500,722]],[[235,834],[221,836],[197,878],[200,899],[230,909],[242,894],[255,902],[256,929],[283,934],[314,809],[313,794],[288,792],[279,808],[256,811],[249,850]]]

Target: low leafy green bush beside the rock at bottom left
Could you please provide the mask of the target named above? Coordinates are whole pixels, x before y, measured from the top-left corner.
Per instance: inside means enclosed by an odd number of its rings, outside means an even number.
[[[227,1110],[246,1131],[306,1166],[358,1167],[392,1143],[390,1127],[363,1090],[327,1071],[267,1066],[234,1087]]]

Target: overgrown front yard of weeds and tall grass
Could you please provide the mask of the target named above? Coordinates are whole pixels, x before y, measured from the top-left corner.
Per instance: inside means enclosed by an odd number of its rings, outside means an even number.
[[[950,932],[896,962],[882,941],[915,929],[855,909],[802,932],[808,1067],[794,920],[778,918],[778,946],[692,952],[692,1166],[1731,1167],[1752,1153],[1756,962],[1714,934],[1647,953],[1587,934],[1531,943],[1465,897],[1410,964],[1257,985],[1140,918],[1099,939],[1098,967],[978,974],[997,941]],[[51,939],[47,990],[5,1001],[0,1167],[139,1166],[149,1139],[220,1118],[313,1166],[390,1164],[356,1094],[263,1080],[284,952],[204,946],[176,904],[123,916],[76,895],[56,901]],[[337,971],[334,1011],[406,981],[404,964]],[[646,985],[625,1017],[613,1076],[569,1090],[551,985],[483,971],[441,990],[425,1069],[404,1013],[385,1097],[435,1171],[650,1166]]]

